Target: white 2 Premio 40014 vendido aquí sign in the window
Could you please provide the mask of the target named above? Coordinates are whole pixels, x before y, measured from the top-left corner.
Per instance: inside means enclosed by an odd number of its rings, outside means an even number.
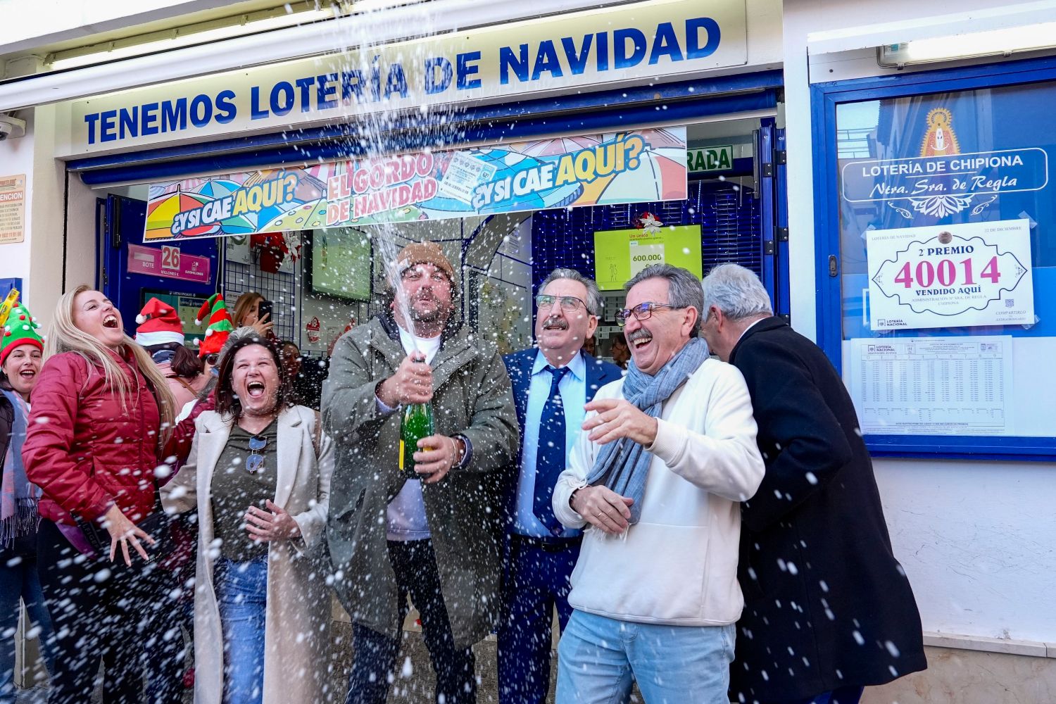
[[[1030,221],[866,233],[874,330],[1034,323]]]

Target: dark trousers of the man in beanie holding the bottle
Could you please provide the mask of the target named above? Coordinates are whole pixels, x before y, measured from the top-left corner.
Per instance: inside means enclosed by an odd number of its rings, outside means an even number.
[[[476,702],[476,659],[472,648],[455,648],[448,610],[440,591],[432,540],[389,543],[389,559],[399,587],[400,623],[407,616],[410,594],[421,615],[421,631],[436,674],[436,701],[445,704]],[[348,676],[345,704],[384,704],[396,671],[400,640],[365,626],[354,626],[355,660]]]

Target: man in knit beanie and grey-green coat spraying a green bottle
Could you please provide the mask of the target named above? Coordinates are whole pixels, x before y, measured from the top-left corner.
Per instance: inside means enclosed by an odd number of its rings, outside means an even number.
[[[499,617],[505,525],[492,507],[516,457],[516,411],[495,346],[454,324],[455,270],[440,247],[410,244],[396,268],[390,283],[410,310],[381,310],[341,336],[323,386],[324,427],[338,445],[334,588],[354,622],[347,701],[384,704],[409,594],[432,644],[437,701],[471,704],[472,646]],[[423,403],[434,434],[403,467],[401,410]]]

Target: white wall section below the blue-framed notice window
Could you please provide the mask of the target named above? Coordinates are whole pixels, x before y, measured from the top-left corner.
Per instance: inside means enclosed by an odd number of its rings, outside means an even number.
[[[925,631],[1056,639],[1056,464],[873,464]]]

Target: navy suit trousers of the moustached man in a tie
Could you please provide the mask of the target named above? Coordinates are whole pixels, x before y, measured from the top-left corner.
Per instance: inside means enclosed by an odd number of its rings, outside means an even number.
[[[503,585],[506,617],[498,629],[498,701],[545,704],[550,689],[553,608],[565,630],[572,607],[569,579],[580,541],[543,543],[511,537],[510,568]]]

